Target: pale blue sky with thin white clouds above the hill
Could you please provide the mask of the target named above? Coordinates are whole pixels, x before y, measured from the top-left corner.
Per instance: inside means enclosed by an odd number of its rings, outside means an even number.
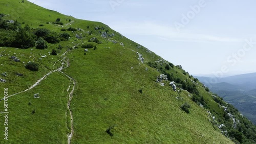
[[[100,21],[191,75],[256,72],[253,0],[29,0]],[[254,42],[255,41],[255,42]]]

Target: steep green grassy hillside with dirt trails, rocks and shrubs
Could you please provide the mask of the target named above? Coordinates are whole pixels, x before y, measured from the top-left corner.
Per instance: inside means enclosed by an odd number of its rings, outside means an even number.
[[[0,93],[4,98],[8,88],[9,95],[8,101],[0,102],[0,111],[8,102],[9,112],[8,140],[3,132],[0,143],[255,142],[255,126],[231,105],[205,91],[181,67],[103,23],[27,1],[3,0],[0,6],[2,23],[8,20],[5,27],[0,25],[0,73],[5,80]],[[17,20],[17,27],[9,20]],[[42,28],[50,30],[42,39],[61,39],[63,33],[70,38],[36,49],[40,38],[35,32]],[[37,44],[20,45],[12,38],[20,33]],[[90,44],[93,48],[82,48]],[[53,49],[56,56],[51,55]],[[38,64],[37,71],[25,68],[29,61]],[[168,80],[156,82],[161,74]],[[170,81],[175,81],[177,91]],[[39,98],[34,98],[36,93]],[[185,103],[190,106],[187,112],[181,108]],[[0,114],[0,131],[5,130],[4,115]],[[225,126],[219,129],[221,124]]]

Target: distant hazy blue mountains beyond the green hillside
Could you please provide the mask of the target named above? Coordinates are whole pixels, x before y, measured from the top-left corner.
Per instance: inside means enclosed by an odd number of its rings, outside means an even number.
[[[196,78],[256,124],[256,73],[225,78]]]

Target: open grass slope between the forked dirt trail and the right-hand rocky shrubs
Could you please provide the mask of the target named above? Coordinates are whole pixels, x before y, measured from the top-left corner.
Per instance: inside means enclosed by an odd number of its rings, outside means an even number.
[[[66,72],[79,84],[72,102],[74,143],[231,143],[186,91],[160,86],[159,73],[146,71],[135,52],[109,46],[85,56],[83,50],[69,54]],[[184,102],[191,105],[189,114],[180,109]],[[112,126],[111,138],[104,131]]]

